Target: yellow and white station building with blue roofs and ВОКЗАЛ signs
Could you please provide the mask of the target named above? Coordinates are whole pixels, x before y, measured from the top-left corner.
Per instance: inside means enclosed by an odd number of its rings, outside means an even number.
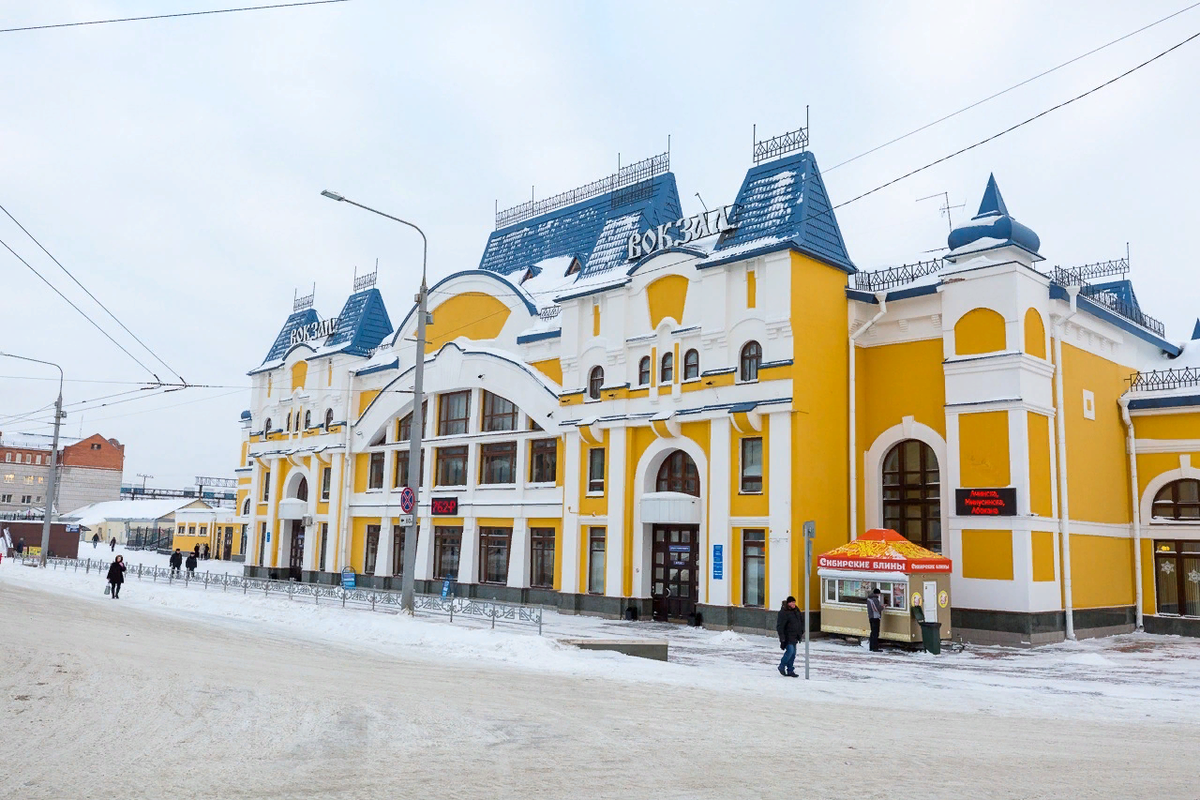
[[[251,371],[247,570],[398,587],[415,531],[419,590],[772,630],[814,521],[949,557],[954,636],[1195,633],[1195,350],[994,180],[948,246],[858,271],[804,151],[690,217],[666,155],[499,212],[430,290],[413,525],[415,308],[305,299]]]

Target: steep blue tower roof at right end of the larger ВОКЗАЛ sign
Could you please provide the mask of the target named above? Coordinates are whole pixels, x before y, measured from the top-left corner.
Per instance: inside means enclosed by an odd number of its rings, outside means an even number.
[[[782,240],[847,272],[858,271],[846,252],[816,156],[811,152],[798,152],[750,168],[738,191],[736,215],[737,230],[720,241],[713,259],[720,259],[722,252],[732,248],[754,248],[754,242],[766,246],[773,240]]]

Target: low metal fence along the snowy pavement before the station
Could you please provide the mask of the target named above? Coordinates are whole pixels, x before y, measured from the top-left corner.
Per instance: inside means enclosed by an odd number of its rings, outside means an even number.
[[[22,564],[36,565],[37,558],[23,557]],[[67,559],[48,558],[46,566],[52,570],[68,570],[78,572],[80,569],[85,573],[92,571],[96,575],[106,575],[112,560],[103,559]],[[228,575],[224,572],[188,572],[187,570],[170,570],[161,566],[146,566],[144,564],[126,565],[125,579],[137,578],[138,581],[151,581],[154,583],[166,583],[168,585],[182,584],[184,588],[202,587],[204,589],[217,589],[221,591],[238,591],[248,595],[250,593],[262,593],[263,596],[286,595],[288,600],[312,599],[319,604],[322,600],[326,602],[341,602],[342,608],[347,604],[370,607],[371,610],[390,609],[400,610],[400,593],[386,589],[343,589],[325,583],[301,583],[296,581],[271,581],[269,578],[248,578],[241,575]],[[449,616],[450,621],[455,616],[491,622],[494,628],[497,622],[536,627],[538,636],[541,636],[541,613],[538,606],[522,606],[520,603],[505,603],[497,600],[480,600],[475,597],[443,597],[440,595],[414,595],[415,610],[430,615]]]

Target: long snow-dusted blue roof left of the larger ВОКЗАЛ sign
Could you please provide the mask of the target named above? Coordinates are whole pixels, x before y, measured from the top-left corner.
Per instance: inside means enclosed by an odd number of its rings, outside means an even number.
[[[674,222],[682,215],[673,174],[665,173],[647,182],[644,194],[636,187],[623,187],[493,231],[479,269],[510,275],[559,255],[578,258],[583,266],[581,275],[607,269],[611,266],[607,260],[604,265],[592,261],[601,239],[607,242],[616,235],[614,227],[628,225],[632,218],[637,229],[644,231],[650,225]],[[629,201],[622,203],[623,198]],[[620,223],[623,219],[626,222]]]

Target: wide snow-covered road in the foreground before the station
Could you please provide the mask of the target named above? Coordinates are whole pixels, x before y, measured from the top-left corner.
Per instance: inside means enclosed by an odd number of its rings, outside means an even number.
[[[1145,716],[1106,721],[938,687],[925,715],[888,700],[906,694],[899,681],[846,702],[841,681],[721,682],[522,634],[496,638],[545,648],[546,669],[434,661],[419,645],[163,613],[136,593],[50,593],[44,576],[0,581],[2,798],[1182,796],[1196,769],[1194,696],[1164,720],[1169,688]],[[467,652],[473,636],[493,638],[462,631]],[[623,664],[648,672],[613,673]],[[937,720],[979,692],[997,710]],[[1165,754],[1172,768],[1156,768]]]

